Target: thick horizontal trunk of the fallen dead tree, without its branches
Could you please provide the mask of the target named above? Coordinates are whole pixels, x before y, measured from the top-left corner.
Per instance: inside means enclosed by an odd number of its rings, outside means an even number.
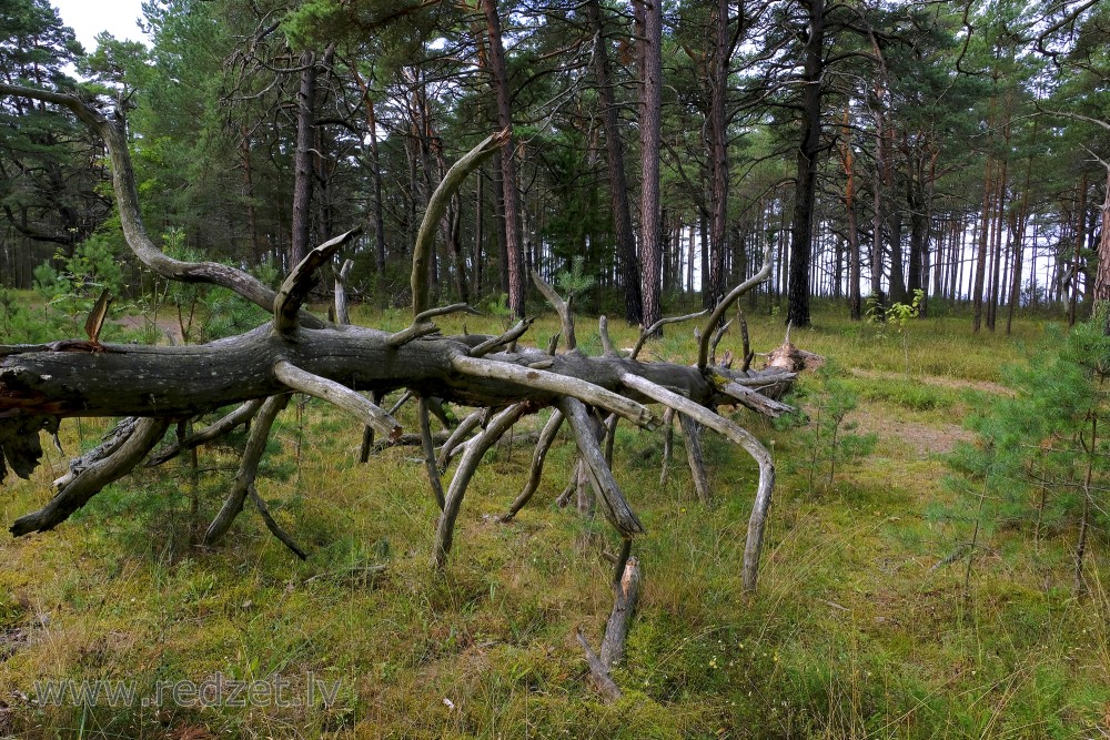
[[[622,389],[619,377],[625,373],[678,388],[699,403],[730,403],[696,368],[675,363],[577,353],[551,357],[524,349],[473,358],[466,356],[470,343],[487,337],[433,337],[393,348],[386,342],[389,336],[361,326],[302,328],[296,341],[289,342],[273,336],[269,325],[263,325],[202,345],[104,345],[104,351],[97,353],[0,347],[0,413],[195,416],[282,392],[284,384],[273,368],[283,359],[356,391],[384,393],[410,387],[472,406],[504,406],[522,399],[549,404],[561,395],[581,395],[583,401],[640,425],[652,419],[652,414],[613,393]],[[546,371],[529,368],[533,358],[546,358],[553,365]],[[744,382],[726,371],[714,372]]]

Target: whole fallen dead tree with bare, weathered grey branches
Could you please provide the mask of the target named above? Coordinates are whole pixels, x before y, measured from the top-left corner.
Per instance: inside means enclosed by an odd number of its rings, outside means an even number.
[[[158,249],[143,226],[122,120],[105,115],[94,103],[77,95],[8,84],[0,84],[0,95],[19,95],[68,109],[103,139],[111,159],[123,234],[145,266],[169,280],[230,288],[273,313],[272,320],[251,332],[204,345],[101,344],[94,315],[90,317],[88,339],[0,346],[0,480],[8,467],[28,477],[42,456],[41,433],[56,433],[62,418],[122,417],[97,448],[70,463],[69,472],[54,481],[54,495],[46,506],[12,524],[13,535],[52,529],[134,468],[164,463],[250,422],[239,473],[205,533],[205,541],[219,540],[250,498],[268,527],[304,557],[269,516],[255,491],[259,462],[274,419],[292,393],[303,393],[350,413],[365,425],[367,435],[376,433],[398,439],[402,428],[392,415],[395,412],[387,412],[379,404],[386,394],[404,391],[401,403],[412,397],[418,403],[418,444],[423,446],[428,480],[441,509],[433,565],[442,569],[451,551],[467,484],[485,453],[523,417],[554,407],[539,435],[529,479],[503,519],[511,519],[527,503],[538,485],[547,449],[561,427],[568,426],[578,455],[573,483],[594,491],[598,507],[624,541],[615,571],[617,605],[602,660],[596,660],[586,648],[598,685],[604,690],[615,690],[610,680],[605,683],[606,667],[612,665],[614,651],[619,653],[623,625],[627,624],[629,601],[635,599],[638,571],[629,551],[633,538],[643,534],[644,527],[613,476],[612,439],[622,418],[639,427],[655,428],[658,419],[647,405],[657,404],[666,408],[668,448],[669,425],[676,415],[683,422],[696,478],[705,480],[697,444],[700,427],[709,427],[736,443],[757,464],[759,483],[743,565],[744,589],[755,589],[775,468],[763,444],[716,409],[743,405],[771,416],[788,410],[775,397],[795,374],[793,368],[781,366],[760,372],[749,369],[750,353],[746,346],[744,367],[731,369],[728,363],[715,362],[714,349],[726,325],[725,313],[769,273],[769,252],[763,268],[728,293],[712,312],[660,322],[707,316],[697,335],[698,359],[693,366],[638,359],[644,341],[660,324],[644,327],[630,352],[617,351],[608,339],[604,317],[599,323],[604,353],[587,356],[575,344],[569,302],[538,275],[533,275],[537,287],[562,320],[562,332],[545,349],[517,343],[531,320],[519,322],[500,336],[444,336],[433,321],[436,316],[473,310],[465,304],[428,305],[428,262],[436,226],[467,173],[508,139],[508,132],[503,131],[460,159],[428,203],[413,252],[412,324],[391,334],[345,323],[341,280],[336,281],[339,323],[331,323],[309,313],[302,304],[314,284],[315,273],[330,264],[356,232],[312,250],[276,292],[228,265],[173,260]],[[345,271],[340,271],[336,276],[343,274]],[[562,352],[557,349],[559,336]],[[374,401],[364,395],[367,392]],[[446,402],[475,410],[436,449],[430,418],[433,415],[448,418],[442,408]],[[203,414],[233,405],[234,410],[214,424],[192,435],[179,435],[174,444],[160,447],[171,425],[188,424]],[[442,476],[456,458],[453,476],[444,487]]]

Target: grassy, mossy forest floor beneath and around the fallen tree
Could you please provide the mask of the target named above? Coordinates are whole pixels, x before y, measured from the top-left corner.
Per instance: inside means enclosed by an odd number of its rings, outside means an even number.
[[[356,320],[407,323],[401,312]],[[750,460],[707,437],[716,499],[704,506],[680,446],[660,486],[662,435],[620,427],[615,473],[648,535],[636,548],[645,588],[615,673],[625,690],[616,706],[598,701],[574,640],[582,628],[599,641],[612,605],[601,553],[615,543],[603,520],[554,506],[569,443],[552,450],[541,491],[508,525],[492,516],[519,491],[531,448],[491,453],[446,577],[436,578],[436,508],[416,453],[390,449],[360,465],[360,429],[310,402],[280,419],[260,484],[310,549],[306,562],[250,509],[222,547],[191,545],[234,475],[230,447],[202,449],[195,483],[185,467],[133,476],[57,531],[0,539],[0,738],[1104,737],[1104,533],[1082,599],[1070,587],[1073,527],[1035,543],[1026,528],[988,526],[970,571],[966,558],[944,565],[970,538],[973,511],[944,485],[940,453],[983,394],[1006,392],[999,366],[1043,341],[1035,322],[1013,337],[972,336],[968,324],[920,320],[905,344],[831,315],[794,333],[845,368],[860,397],[851,418],[880,439],[833,485],[810,487],[790,472],[810,452],[797,433],[737,417],[774,445],[781,470],[750,599],[739,577]],[[541,321],[532,339],[543,346],[554,331]],[[618,346],[634,339],[618,323],[610,331]],[[757,349],[781,332],[777,318],[751,320]],[[593,321],[578,336],[599,352]],[[695,353],[686,327],[645,356],[693,362]],[[813,381],[807,388],[804,405]],[[415,427],[411,410],[401,419]],[[0,518],[41,506],[68,455],[104,428],[67,422],[67,455],[49,446],[32,480],[9,481]],[[216,675],[284,677],[284,698],[301,706],[33,702],[44,679],[132,681],[151,698],[160,682]],[[334,688],[334,702],[325,707],[319,691],[303,701],[310,675]]]

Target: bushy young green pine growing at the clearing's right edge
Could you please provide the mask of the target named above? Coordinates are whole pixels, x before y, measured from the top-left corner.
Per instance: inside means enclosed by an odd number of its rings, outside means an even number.
[[[1086,590],[1083,557],[1091,528],[1104,521],[1110,483],[1108,320],[1102,305],[1067,335],[1053,328],[1052,348],[1007,368],[1015,395],[995,398],[968,419],[976,438],[949,458],[952,485],[977,510],[968,581],[981,530],[1028,528],[1039,547],[1046,533],[1076,527],[1074,585]]]

